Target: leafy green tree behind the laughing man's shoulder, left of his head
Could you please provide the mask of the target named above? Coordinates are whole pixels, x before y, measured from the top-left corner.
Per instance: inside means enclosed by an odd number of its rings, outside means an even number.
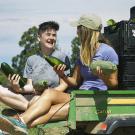
[[[37,39],[37,27],[33,26],[25,31],[19,41],[19,46],[24,49],[20,54],[12,58],[12,66],[17,70],[18,73],[22,74],[29,56],[39,52],[39,41]]]

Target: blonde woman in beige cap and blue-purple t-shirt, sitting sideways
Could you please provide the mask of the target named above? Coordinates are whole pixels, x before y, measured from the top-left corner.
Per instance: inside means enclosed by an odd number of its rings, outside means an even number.
[[[64,74],[65,65],[59,65],[54,70],[63,78],[60,88],[64,91],[67,87],[79,86],[81,90],[101,90],[115,87],[118,84],[117,71],[110,75],[104,75],[100,68],[95,74],[89,68],[93,60],[111,61],[118,64],[118,56],[114,49],[105,43],[99,42],[101,31],[101,19],[96,15],[83,15],[73,24],[77,27],[77,34],[81,41],[80,58],[77,60],[72,77]],[[70,94],[46,90],[40,98],[33,102],[30,107],[19,116],[19,119],[0,116],[0,127],[2,130],[12,134],[27,134],[28,124],[33,127],[37,124],[47,123],[52,120],[64,119],[68,115]],[[67,103],[67,104],[66,104]],[[61,106],[66,104],[60,111],[54,114]],[[4,128],[4,124],[8,128]]]

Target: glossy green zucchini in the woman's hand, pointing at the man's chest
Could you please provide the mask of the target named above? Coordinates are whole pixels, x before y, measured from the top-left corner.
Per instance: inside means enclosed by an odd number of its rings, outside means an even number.
[[[58,59],[58,58],[56,58],[54,56],[46,56],[46,55],[44,55],[44,58],[52,67],[54,67],[55,65],[64,64],[64,65],[66,65],[65,70],[68,70],[70,68],[69,65],[67,65],[66,63],[64,63],[63,61],[61,61],[60,59]]]

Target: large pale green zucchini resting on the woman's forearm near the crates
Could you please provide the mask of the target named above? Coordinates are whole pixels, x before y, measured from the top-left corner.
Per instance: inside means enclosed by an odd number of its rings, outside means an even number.
[[[97,66],[102,69],[104,74],[111,74],[117,70],[117,65],[113,64],[111,61],[96,60],[90,64],[92,72],[96,72]]]

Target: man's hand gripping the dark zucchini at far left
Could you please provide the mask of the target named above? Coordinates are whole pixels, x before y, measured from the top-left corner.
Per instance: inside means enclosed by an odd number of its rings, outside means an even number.
[[[13,74],[12,76],[9,74],[8,80],[14,92],[19,93],[20,92],[20,85],[19,85],[20,76],[18,74]]]

